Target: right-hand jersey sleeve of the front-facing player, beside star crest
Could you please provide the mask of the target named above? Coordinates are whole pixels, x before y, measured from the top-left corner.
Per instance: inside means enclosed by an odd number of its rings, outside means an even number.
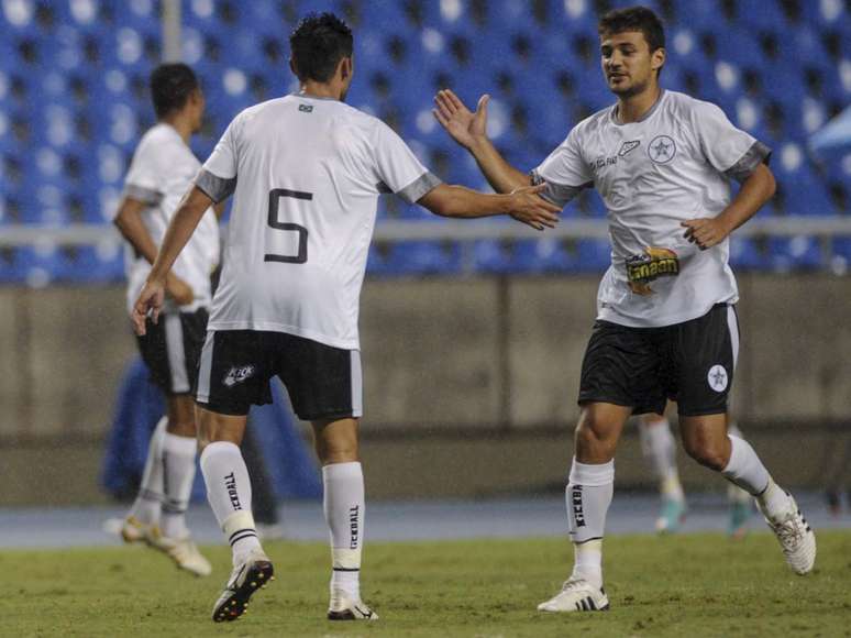
[[[771,148],[737,129],[715,105],[697,102],[693,125],[706,161],[731,179],[744,182],[756,166],[769,163]]]

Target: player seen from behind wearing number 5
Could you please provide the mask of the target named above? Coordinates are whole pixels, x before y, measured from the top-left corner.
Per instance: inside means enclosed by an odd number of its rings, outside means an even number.
[[[300,91],[254,106],[228,127],[186,195],[133,310],[146,330],[163,305],[172,263],[203,211],[233,194],[224,267],[213,298],[196,399],[207,494],[233,549],[233,573],[213,606],[232,620],[273,578],[257,540],[237,443],[269,380],[287,386],[312,424],[322,464],[332,573],[328,617],[373,619],[361,600],[364,481],[357,314],[378,196],[457,218],[511,215],[543,230],[560,210],[524,185],[485,195],[442,184],[384,122],[345,105],[353,36],[331,13],[310,14],[290,36]]]

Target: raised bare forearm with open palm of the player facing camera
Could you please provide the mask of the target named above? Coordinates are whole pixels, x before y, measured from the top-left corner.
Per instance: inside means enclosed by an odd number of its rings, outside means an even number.
[[[483,175],[497,193],[512,193],[529,186],[531,178],[505,161],[487,136],[487,103],[490,96],[479,98],[473,113],[450,89],[434,97],[434,118],[455,142],[475,157]]]

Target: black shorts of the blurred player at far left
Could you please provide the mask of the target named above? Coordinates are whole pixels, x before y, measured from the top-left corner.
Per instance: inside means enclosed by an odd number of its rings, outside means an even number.
[[[136,337],[151,378],[166,395],[195,392],[207,317],[203,308],[161,315],[156,323],[147,320],[144,337]]]

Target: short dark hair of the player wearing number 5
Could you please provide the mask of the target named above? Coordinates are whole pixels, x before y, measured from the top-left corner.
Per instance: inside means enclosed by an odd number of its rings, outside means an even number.
[[[289,36],[296,75],[301,81],[327,82],[336,65],[352,57],[354,37],[349,25],[333,13],[308,13]]]

